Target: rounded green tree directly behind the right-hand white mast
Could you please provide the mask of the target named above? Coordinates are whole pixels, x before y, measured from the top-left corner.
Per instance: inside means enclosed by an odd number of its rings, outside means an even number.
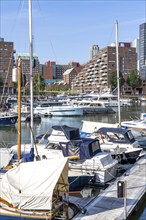
[[[124,83],[125,83],[124,77],[123,77],[121,72],[119,72],[119,78],[120,78],[120,82],[119,83],[120,83],[120,88],[121,88],[124,85]],[[117,72],[111,73],[111,75],[109,77],[109,84],[114,89],[117,87]]]

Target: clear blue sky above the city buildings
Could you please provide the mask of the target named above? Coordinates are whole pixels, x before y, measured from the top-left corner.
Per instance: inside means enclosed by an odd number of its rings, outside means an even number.
[[[32,0],[33,52],[40,62],[86,63],[90,47],[139,37],[146,22],[146,0]],[[28,0],[0,0],[0,37],[29,53]]]

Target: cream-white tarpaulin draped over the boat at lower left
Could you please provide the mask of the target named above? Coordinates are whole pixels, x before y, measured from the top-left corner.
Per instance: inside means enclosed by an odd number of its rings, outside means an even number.
[[[53,191],[68,192],[67,160],[58,158],[21,163],[4,175],[0,197],[18,209],[51,210]]]

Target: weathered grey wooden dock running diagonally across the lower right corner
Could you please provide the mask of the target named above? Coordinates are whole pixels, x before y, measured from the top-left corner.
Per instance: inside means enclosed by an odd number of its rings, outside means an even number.
[[[118,181],[126,182],[126,199],[118,198]],[[76,201],[80,204],[81,212],[74,220],[122,220],[128,218],[136,209],[139,201],[146,193],[146,157],[137,161],[131,169],[119,177],[103,193],[91,200]],[[126,209],[124,208],[126,200]]]

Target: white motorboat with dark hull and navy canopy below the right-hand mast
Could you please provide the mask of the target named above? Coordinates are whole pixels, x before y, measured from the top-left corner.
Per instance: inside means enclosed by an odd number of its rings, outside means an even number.
[[[114,127],[101,127],[94,133],[82,133],[100,140],[101,150],[110,152],[120,163],[134,163],[141,155],[142,148],[131,130]]]

